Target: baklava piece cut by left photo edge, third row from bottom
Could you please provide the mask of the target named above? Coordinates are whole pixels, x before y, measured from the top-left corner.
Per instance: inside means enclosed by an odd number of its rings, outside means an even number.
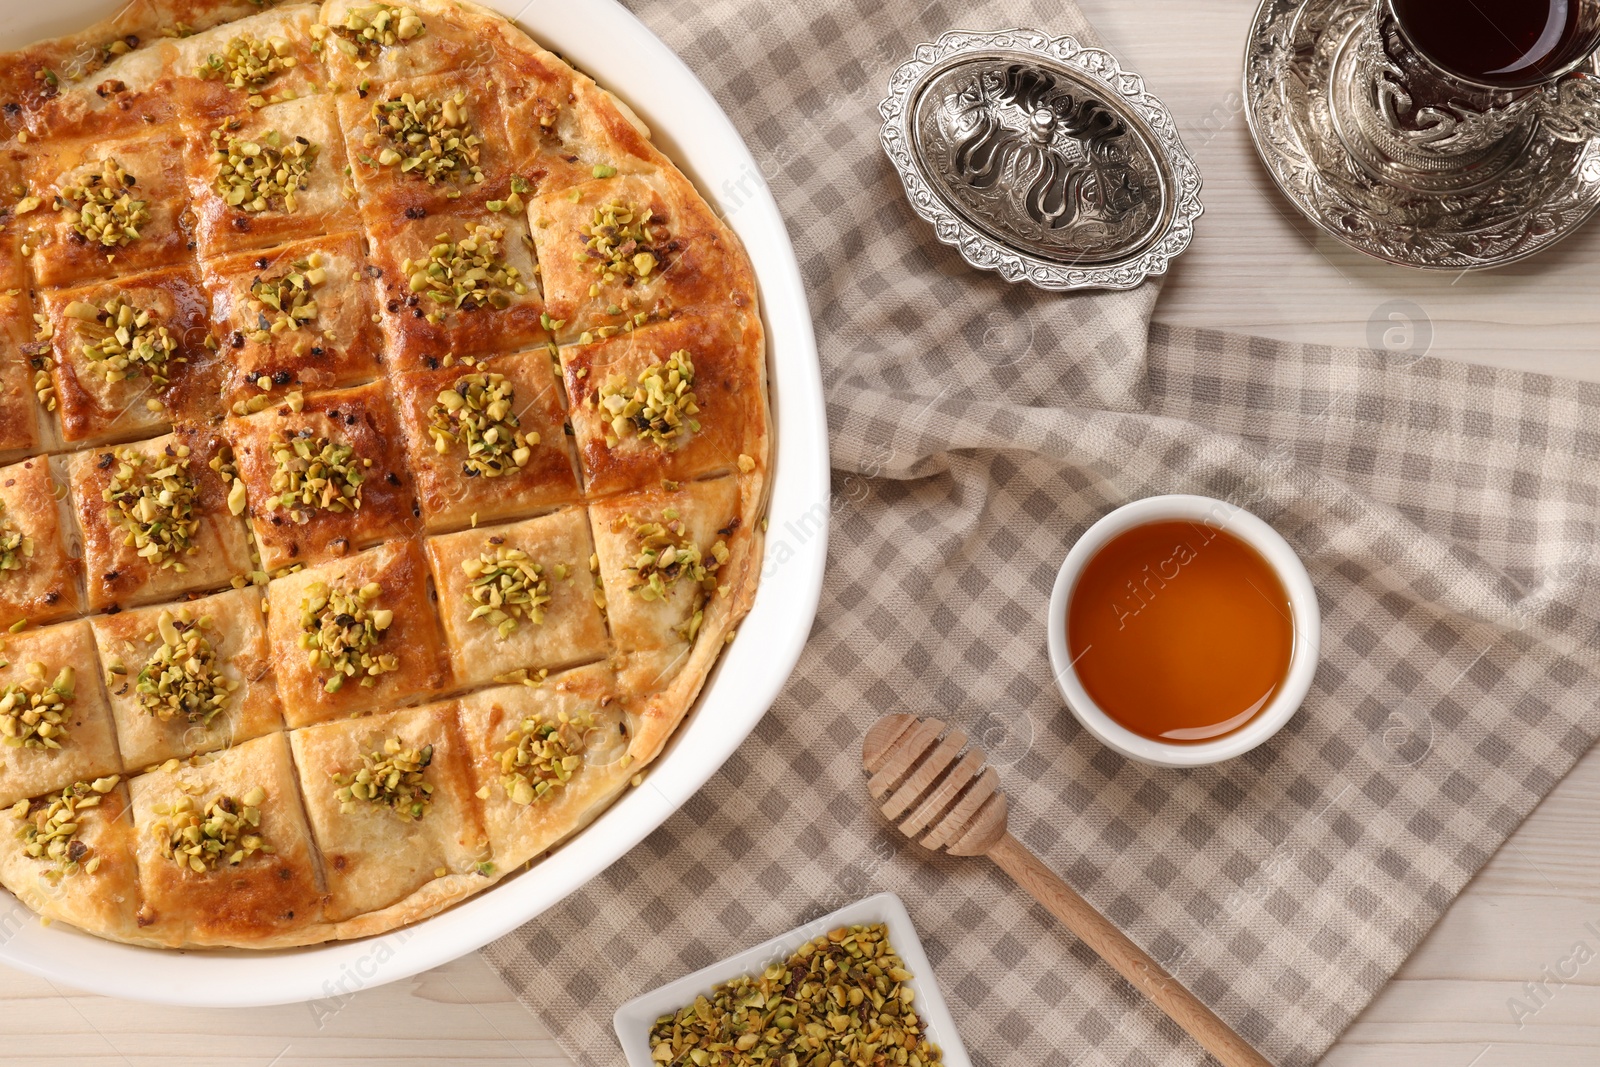
[[[83,611],[64,498],[43,456],[0,467],[0,627]]]

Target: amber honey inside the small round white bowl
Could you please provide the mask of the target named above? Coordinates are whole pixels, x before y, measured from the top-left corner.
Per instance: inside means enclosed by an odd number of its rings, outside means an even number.
[[[1152,741],[1222,737],[1261,713],[1294,653],[1288,592],[1237,536],[1154,522],[1096,552],[1067,603],[1067,651],[1090,697]]]

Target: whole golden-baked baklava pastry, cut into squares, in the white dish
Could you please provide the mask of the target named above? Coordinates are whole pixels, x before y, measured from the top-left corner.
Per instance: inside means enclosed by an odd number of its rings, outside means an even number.
[[[768,464],[738,238],[504,18],[0,56],[0,883],[248,949],[494,885],[682,721]]]

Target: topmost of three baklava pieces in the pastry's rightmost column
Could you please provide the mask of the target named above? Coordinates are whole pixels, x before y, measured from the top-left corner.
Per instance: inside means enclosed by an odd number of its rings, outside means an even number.
[[[677,174],[619,173],[544,194],[530,218],[558,344],[602,341],[680,310],[755,310],[736,238]]]

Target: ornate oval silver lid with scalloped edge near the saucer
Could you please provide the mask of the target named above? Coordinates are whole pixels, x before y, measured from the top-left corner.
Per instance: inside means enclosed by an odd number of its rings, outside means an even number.
[[[1037,30],[950,30],[890,78],[883,150],[966,262],[1043,290],[1128,290],[1194,237],[1200,170],[1115,56]]]

